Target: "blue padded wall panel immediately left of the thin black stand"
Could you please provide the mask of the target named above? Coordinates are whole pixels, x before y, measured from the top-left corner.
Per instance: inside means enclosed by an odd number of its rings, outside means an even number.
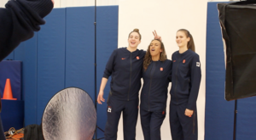
[[[94,100],[94,7],[67,8],[66,83]]]

